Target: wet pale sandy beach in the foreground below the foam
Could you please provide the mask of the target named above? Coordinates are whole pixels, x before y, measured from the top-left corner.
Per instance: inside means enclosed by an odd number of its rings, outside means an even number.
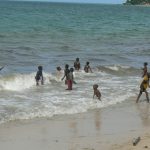
[[[150,149],[150,104],[129,100],[74,115],[0,125],[1,150]],[[132,145],[133,138],[141,140]],[[147,147],[146,147],[147,146]]]

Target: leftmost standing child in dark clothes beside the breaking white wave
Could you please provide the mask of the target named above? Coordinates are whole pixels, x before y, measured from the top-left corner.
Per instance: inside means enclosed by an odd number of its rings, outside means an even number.
[[[39,85],[39,81],[40,80],[41,80],[41,85],[44,84],[42,70],[43,70],[43,67],[42,66],[38,66],[38,71],[37,71],[36,76],[35,76],[35,80],[36,80],[36,85],[37,86]]]

